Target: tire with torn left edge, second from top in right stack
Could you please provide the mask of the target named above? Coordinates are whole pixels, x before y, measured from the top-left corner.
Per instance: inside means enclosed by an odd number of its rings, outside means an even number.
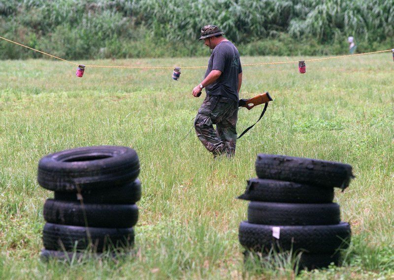
[[[252,178],[239,199],[285,203],[330,203],[333,187],[316,187],[289,181]]]

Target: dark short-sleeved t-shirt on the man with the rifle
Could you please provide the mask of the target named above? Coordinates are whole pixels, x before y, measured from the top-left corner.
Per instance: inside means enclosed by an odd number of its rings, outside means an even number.
[[[230,41],[222,41],[213,49],[205,77],[212,70],[220,70],[222,74],[205,87],[206,94],[221,95],[238,101],[238,74],[242,72],[242,67],[239,52]]]

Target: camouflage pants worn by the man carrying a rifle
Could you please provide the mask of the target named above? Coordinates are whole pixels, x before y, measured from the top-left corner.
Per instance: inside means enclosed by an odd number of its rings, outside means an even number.
[[[237,141],[238,102],[207,95],[198,110],[194,127],[197,137],[214,156],[234,155]],[[216,130],[213,125],[216,124]]]

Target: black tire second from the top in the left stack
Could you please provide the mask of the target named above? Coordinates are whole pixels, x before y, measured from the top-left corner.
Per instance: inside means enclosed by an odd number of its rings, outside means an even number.
[[[57,192],[55,200],[96,204],[135,204],[141,199],[141,182],[136,179],[122,186],[86,190],[81,193]]]

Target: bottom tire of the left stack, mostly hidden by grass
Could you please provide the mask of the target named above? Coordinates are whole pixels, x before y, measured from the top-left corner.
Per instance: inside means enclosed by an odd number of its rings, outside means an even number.
[[[49,261],[50,259],[56,259],[58,261],[71,261],[77,260],[81,261],[83,259],[101,259],[101,258],[110,258],[117,260],[119,258],[124,258],[128,256],[132,256],[134,252],[107,252],[107,253],[90,253],[90,252],[66,252],[66,251],[55,251],[55,250],[47,250],[42,249],[40,258],[43,261]]]

